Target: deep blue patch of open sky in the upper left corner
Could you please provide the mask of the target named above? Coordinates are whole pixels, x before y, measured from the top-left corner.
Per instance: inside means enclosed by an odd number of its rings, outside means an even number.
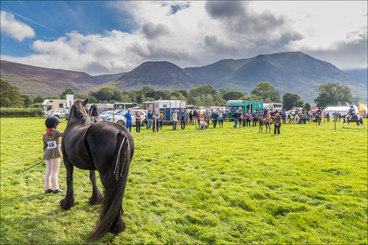
[[[105,30],[130,32],[137,28],[136,24],[131,21],[128,11],[117,10],[108,3],[109,1],[1,0],[0,2],[1,10],[15,13],[16,19],[35,30],[36,36],[33,40],[55,40],[73,30],[82,34],[95,34],[103,33]],[[1,54],[24,56],[33,53],[29,48],[29,40],[28,42],[14,42],[12,37],[3,32],[0,36]]]

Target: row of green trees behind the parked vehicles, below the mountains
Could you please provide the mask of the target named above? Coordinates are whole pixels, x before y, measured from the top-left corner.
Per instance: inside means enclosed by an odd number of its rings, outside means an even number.
[[[135,102],[142,104],[145,101],[155,100],[184,100],[187,104],[195,106],[225,106],[228,100],[262,100],[265,103],[282,103],[283,108],[290,110],[293,107],[305,107],[311,109],[308,102],[301,100],[298,94],[285,93],[282,98],[275,87],[268,82],[259,82],[248,95],[241,91],[233,91],[221,88],[219,91],[210,85],[199,85],[189,91],[174,89],[156,90],[151,86],[143,86],[139,90],[118,91],[112,87],[102,87],[88,94],[78,94],[72,89],[66,89],[61,94],[42,97],[30,94],[21,94],[17,86],[1,79],[0,106],[7,108],[34,108],[41,107],[46,99],[66,99],[66,94],[73,94],[74,98],[89,98],[93,103],[113,104],[115,102]],[[344,106],[345,101],[358,103],[359,97],[353,97],[350,88],[339,83],[321,84],[318,89],[318,97],[314,100],[317,107]]]

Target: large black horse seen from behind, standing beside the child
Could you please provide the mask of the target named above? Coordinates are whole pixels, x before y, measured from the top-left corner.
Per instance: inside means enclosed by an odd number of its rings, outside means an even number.
[[[125,229],[122,201],[127,184],[130,162],[134,154],[132,134],[118,123],[92,123],[87,114],[85,101],[75,100],[70,109],[67,127],[61,140],[64,165],[67,170],[67,193],[60,201],[64,210],[75,205],[73,169],[89,170],[92,182],[91,205],[102,203],[100,219],[91,241],[96,241],[107,232],[120,233]],[[105,187],[103,197],[96,184],[96,172]]]

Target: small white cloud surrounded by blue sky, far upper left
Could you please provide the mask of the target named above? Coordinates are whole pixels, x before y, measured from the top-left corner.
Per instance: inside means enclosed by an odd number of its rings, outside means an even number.
[[[13,14],[6,11],[0,11],[0,30],[7,36],[23,41],[26,37],[32,38],[35,36],[35,31],[27,24],[17,21]]]

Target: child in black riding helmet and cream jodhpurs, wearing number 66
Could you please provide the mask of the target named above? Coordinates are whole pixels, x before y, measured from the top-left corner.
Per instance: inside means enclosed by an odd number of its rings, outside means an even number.
[[[60,156],[61,156],[61,144],[60,137],[63,136],[63,132],[58,130],[60,119],[56,116],[50,116],[45,120],[47,127],[46,134],[43,135],[43,160],[46,162],[45,173],[45,193],[52,192],[53,194],[65,191],[59,189],[57,183],[57,174],[59,174]],[[50,186],[50,180],[52,182],[52,189]]]

